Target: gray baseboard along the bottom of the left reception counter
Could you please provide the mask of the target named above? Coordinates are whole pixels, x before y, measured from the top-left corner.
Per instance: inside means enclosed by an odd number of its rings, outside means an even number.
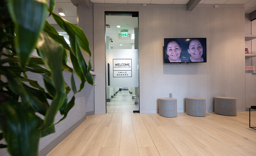
[[[65,132],[63,132],[60,136],[58,136],[55,140],[53,140],[50,144],[48,144],[43,149],[41,149],[38,152],[38,156],[46,156],[48,153],[50,153],[57,145],[60,144],[61,141],[63,141],[69,134],[71,134],[78,126],[80,126],[86,120],[87,118],[86,114],[82,119],[80,119],[73,126],[68,128]]]

